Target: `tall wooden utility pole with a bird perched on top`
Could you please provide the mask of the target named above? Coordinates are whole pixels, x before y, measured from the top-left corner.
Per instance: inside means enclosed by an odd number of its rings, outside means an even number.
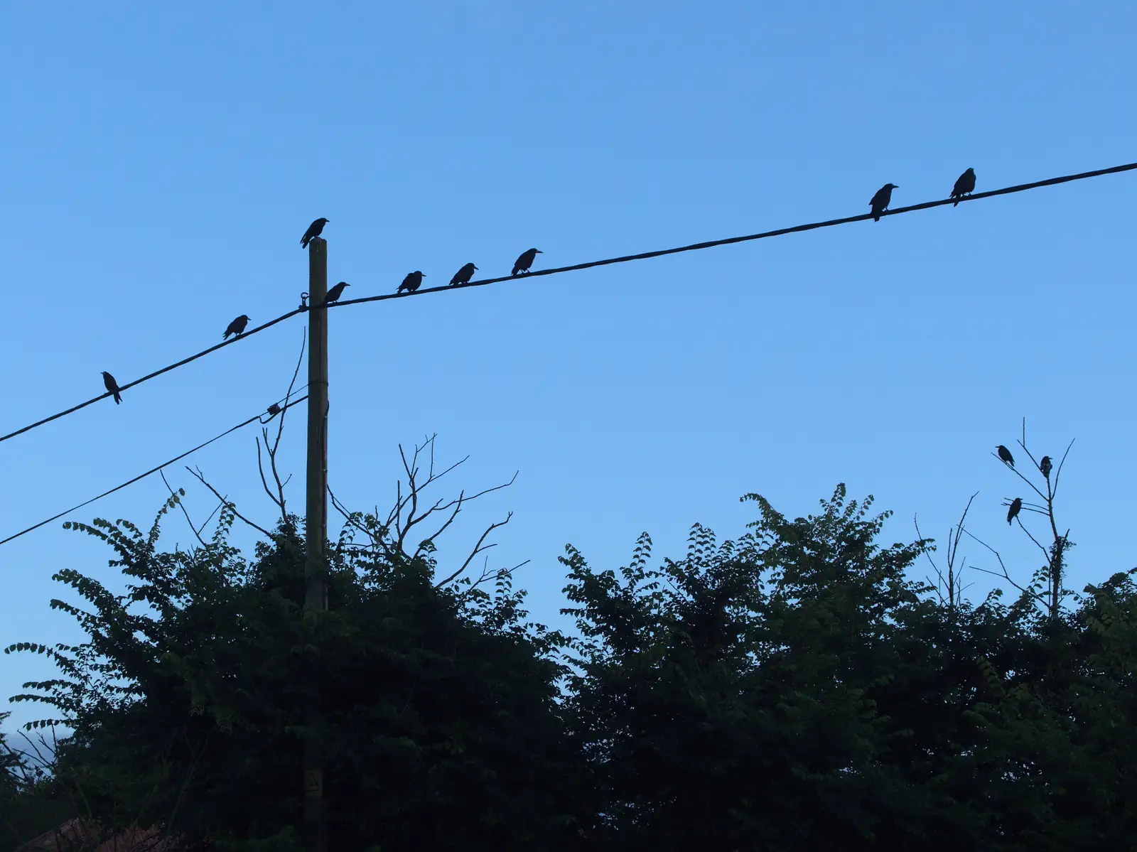
[[[305,506],[305,613],[327,609],[324,543],[327,540],[327,241],[308,246],[308,471]],[[318,615],[317,615],[318,619]],[[318,671],[318,663],[315,667]],[[304,735],[304,834],[308,852],[326,852],[324,750],[319,695],[307,709]]]

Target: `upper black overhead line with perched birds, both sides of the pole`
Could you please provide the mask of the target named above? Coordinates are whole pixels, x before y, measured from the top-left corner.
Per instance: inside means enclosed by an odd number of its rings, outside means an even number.
[[[1107,175],[1107,174],[1118,174],[1120,172],[1130,172],[1130,171],[1132,171],[1135,168],[1137,168],[1137,163],[1129,163],[1129,164],[1126,164],[1123,166],[1112,166],[1110,168],[1098,168],[1098,169],[1095,169],[1093,172],[1079,172],[1078,174],[1068,174],[1068,175],[1062,175],[1061,177],[1048,177],[1048,179],[1046,179],[1044,181],[1035,181],[1032,183],[1020,183],[1020,184],[1014,185],[1014,187],[1004,187],[1003,189],[989,190],[987,192],[976,192],[976,193],[970,195],[970,196],[964,196],[963,198],[960,198],[960,199],[941,198],[941,199],[937,199],[935,201],[924,201],[923,204],[914,204],[914,205],[911,205],[910,207],[898,207],[895,210],[887,210],[887,212],[885,212],[883,216],[897,216],[897,215],[899,215],[902,213],[913,213],[914,210],[926,210],[926,209],[929,209],[931,207],[943,207],[944,205],[947,205],[947,204],[956,204],[956,202],[962,204],[962,202],[965,202],[965,201],[978,201],[981,198],[993,198],[995,196],[1007,196],[1007,195],[1011,195],[1013,192],[1024,192],[1024,191],[1030,190],[1030,189],[1039,189],[1041,187],[1053,187],[1053,185],[1056,185],[1059,183],[1069,183],[1071,181],[1084,181],[1084,180],[1086,180],[1088,177],[1101,177],[1102,175]],[[655,251],[642,251],[642,253],[640,253],[638,255],[622,255],[620,257],[609,257],[609,258],[606,258],[606,259],[603,259],[603,260],[589,260],[587,263],[579,263],[579,264],[574,264],[572,266],[558,266],[558,267],[551,268],[551,270],[537,270],[534,272],[526,272],[526,273],[524,273],[522,275],[517,275],[517,276],[503,275],[500,278],[481,279],[479,281],[468,281],[468,282],[464,282],[464,283],[459,283],[459,284],[443,284],[443,286],[440,286],[440,287],[429,287],[429,288],[425,288],[425,289],[418,289],[415,292],[392,292],[392,293],[382,293],[382,295],[379,295],[379,296],[365,296],[365,297],[362,297],[362,298],[358,298],[358,299],[341,299],[339,301],[332,303],[327,307],[343,307],[346,305],[362,305],[362,304],[364,304],[366,301],[384,301],[387,299],[402,299],[402,298],[406,298],[408,296],[425,296],[426,293],[431,293],[431,292],[448,292],[450,290],[459,290],[459,289],[463,289],[463,288],[466,288],[466,287],[484,287],[485,284],[496,284],[496,283],[500,283],[503,281],[516,281],[518,279],[529,279],[529,278],[536,278],[536,276],[539,276],[539,275],[556,275],[556,274],[559,274],[562,272],[576,272],[579,270],[589,270],[589,268],[592,268],[594,266],[611,266],[612,264],[629,263],[630,260],[646,260],[646,259],[652,258],[652,257],[663,257],[665,255],[678,255],[678,254],[683,253],[683,251],[698,251],[700,249],[715,248],[717,246],[730,246],[730,245],[733,245],[736,242],[749,242],[752,240],[762,240],[762,239],[766,239],[767,237],[782,237],[783,234],[788,234],[788,233],[800,233],[803,231],[814,231],[814,230],[816,230],[819,228],[832,228],[835,225],[847,225],[847,224],[850,224],[853,222],[865,222],[865,221],[868,221],[870,218],[872,218],[872,214],[871,213],[864,213],[864,214],[861,214],[858,216],[846,216],[845,218],[832,218],[832,220],[827,220],[824,222],[810,222],[810,223],[804,224],[804,225],[794,225],[791,228],[779,228],[779,229],[777,229],[774,231],[763,231],[762,233],[752,233],[752,234],[747,234],[745,237],[728,237],[727,239],[723,239],[723,240],[708,240],[707,242],[695,242],[695,243],[691,243],[690,246],[680,246],[678,248],[665,248],[665,249],[657,249]],[[156,370],[152,373],[148,373],[147,375],[143,375],[141,379],[135,379],[134,381],[127,382],[126,384],[121,384],[118,389],[119,389],[119,391],[128,390],[130,388],[133,388],[135,384],[141,384],[142,382],[149,381],[150,379],[153,379],[153,378],[156,378],[158,375],[161,375],[163,373],[168,373],[171,370],[175,370],[175,369],[177,369],[180,366],[184,366],[185,364],[189,364],[192,361],[197,361],[198,358],[204,357],[206,355],[209,355],[210,353],[217,351],[218,349],[221,349],[221,348],[223,348],[225,346],[230,346],[231,344],[235,344],[238,340],[243,340],[244,338],[251,337],[252,334],[256,334],[258,331],[264,331],[265,329],[272,328],[273,325],[275,325],[275,324],[277,324],[280,322],[284,322],[285,320],[289,320],[289,319],[293,317],[297,314],[305,313],[306,311],[308,311],[307,307],[299,307],[299,308],[296,308],[293,311],[290,311],[289,313],[282,314],[281,316],[277,316],[275,320],[271,320],[271,321],[266,322],[263,325],[258,325],[255,329],[249,329],[248,331],[246,331],[244,333],[240,334],[239,337],[233,338],[232,340],[226,340],[226,341],[223,341],[221,344],[217,344],[216,346],[210,346],[208,349],[204,349],[202,351],[199,351],[196,355],[191,355],[188,358],[183,358],[182,361],[179,361],[179,362],[176,362],[174,364],[169,364],[168,366],[164,366],[160,370]],[[106,399],[109,396],[113,396],[113,394],[109,392],[109,391],[105,392],[105,394],[100,394],[97,397],[88,399],[85,403],[80,403],[78,405],[74,405],[70,408],[67,408],[66,411],[59,412],[58,414],[52,414],[50,417],[44,417],[43,420],[38,420],[36,422],[30,423],[28,425],[23,427],[22,429],[17,429],[14,432],[9,432],[8,435],[0,436],[0,442],[6,441],[9,438],[15,438],[17,435],[23,435],[24,432],[27,432],[27,431],[30,431],[32,429],[35,429],[36,427],[43,425],[44,423],[50,423],[53,420],[58,420],[59,417],[66,416],[68,414],[73,414],[73,413],[77,412],[80,408],[85,408],[86,406],[92,405],[94,403],[98,403],[100,399]]]

